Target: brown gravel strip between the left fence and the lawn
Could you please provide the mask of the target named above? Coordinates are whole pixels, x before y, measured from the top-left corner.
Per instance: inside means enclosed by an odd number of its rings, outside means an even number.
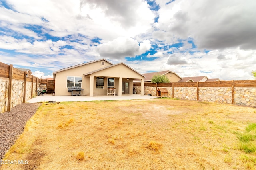
[[[26,122],[40,105],[41,103],[23,103],[13,107],[10,112],[0,113],[0,161],[22,134]]]

